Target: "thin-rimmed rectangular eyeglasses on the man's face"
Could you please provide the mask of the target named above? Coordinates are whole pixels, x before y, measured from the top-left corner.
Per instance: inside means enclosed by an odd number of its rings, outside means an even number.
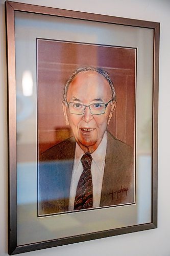
[[[102,114],[105,114],[107,105],[111,101],[113,101],[113,99],[109,100],[106,104],[101,102],[96,102],[90,105],[84,105],[78,102],[69,102],[69,103],[66,102],[66,103],[68,105],[68,109],[71,114],[83,115],[85,112],[85,109],[88,107],[92,115],[102,115]]]

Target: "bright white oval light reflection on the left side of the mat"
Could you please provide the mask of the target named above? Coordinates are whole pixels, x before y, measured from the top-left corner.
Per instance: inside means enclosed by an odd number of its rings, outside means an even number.
[[[26,97],[33,94],[33,76],[29,70],[22,74],[22,93]]]

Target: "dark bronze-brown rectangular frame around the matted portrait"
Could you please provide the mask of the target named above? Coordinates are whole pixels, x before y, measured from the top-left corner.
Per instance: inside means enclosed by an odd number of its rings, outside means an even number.
[[[8,188],[9,188],[9,245],[10,255],[43,248],[77,243],[92,239],[115,236],[141,230],[157,228],[157,144],[158,144],[158,70],[160,24],[144,20],[112,17],[77,11],[56,9],[16,2],[5,3],[7,37],[7,80],[8,80]],[[16,81],[15,81],[15,11],[90,20],[101,23],[127,25],[154,30],[153,62],[153,144],[152,144],[152,222],[124,228],[88,233],[64,239],[36,242],[17,246],[17,183],[16,183]]]

